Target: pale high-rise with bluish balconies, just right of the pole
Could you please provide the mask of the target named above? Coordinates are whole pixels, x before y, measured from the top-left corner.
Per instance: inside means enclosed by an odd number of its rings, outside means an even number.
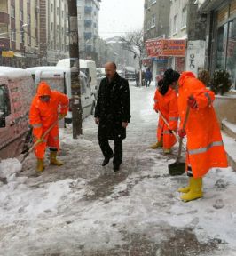
[[[101,0],[77,0],[80,57],[98,60],[98,18]]]

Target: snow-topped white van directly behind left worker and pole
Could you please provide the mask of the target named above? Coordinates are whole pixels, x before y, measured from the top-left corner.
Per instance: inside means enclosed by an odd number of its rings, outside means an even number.
[[[54,66],[34,67],[28,68],[28,72],[32,75],[35,81],[35,87],[41,81],[45,81],[50,84],[52,90],[57,90],[67,94],[71,99],[71,74],[70,68],[59,68]],[[90,83],[87,76],[80,72],[80,84],[81,84],[81,103],[83,119],[91,114],[91,108],[93,106],[93,97],[91,96]],[[69,109],[65,118],[67,124],[72,122],[72,113]]]

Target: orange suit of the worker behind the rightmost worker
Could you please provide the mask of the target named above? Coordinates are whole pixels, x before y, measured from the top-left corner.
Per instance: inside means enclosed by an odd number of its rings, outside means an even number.
[[[169,87],[168,92],[162,95],[157,89],[154,96],[154,110],[160,111],[169,124],[168,127],[159,116],[157,140],[161,141],[161,136],[163,136],[163,148],[171,148],[177,142],[173,133],[169,131],[174,130],[177,132],[177,93]]]

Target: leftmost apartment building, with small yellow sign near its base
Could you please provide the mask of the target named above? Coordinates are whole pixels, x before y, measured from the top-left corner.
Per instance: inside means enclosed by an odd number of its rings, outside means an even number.
[[[38,63],[38,2],[1,0],[0,64],[27,68]]]

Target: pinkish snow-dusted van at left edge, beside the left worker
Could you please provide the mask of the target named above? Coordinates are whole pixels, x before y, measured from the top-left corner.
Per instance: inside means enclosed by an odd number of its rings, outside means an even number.
[[[0,158],[18,156],[30,146],[28,113],[34,95],[28,71],[0,67]]]

